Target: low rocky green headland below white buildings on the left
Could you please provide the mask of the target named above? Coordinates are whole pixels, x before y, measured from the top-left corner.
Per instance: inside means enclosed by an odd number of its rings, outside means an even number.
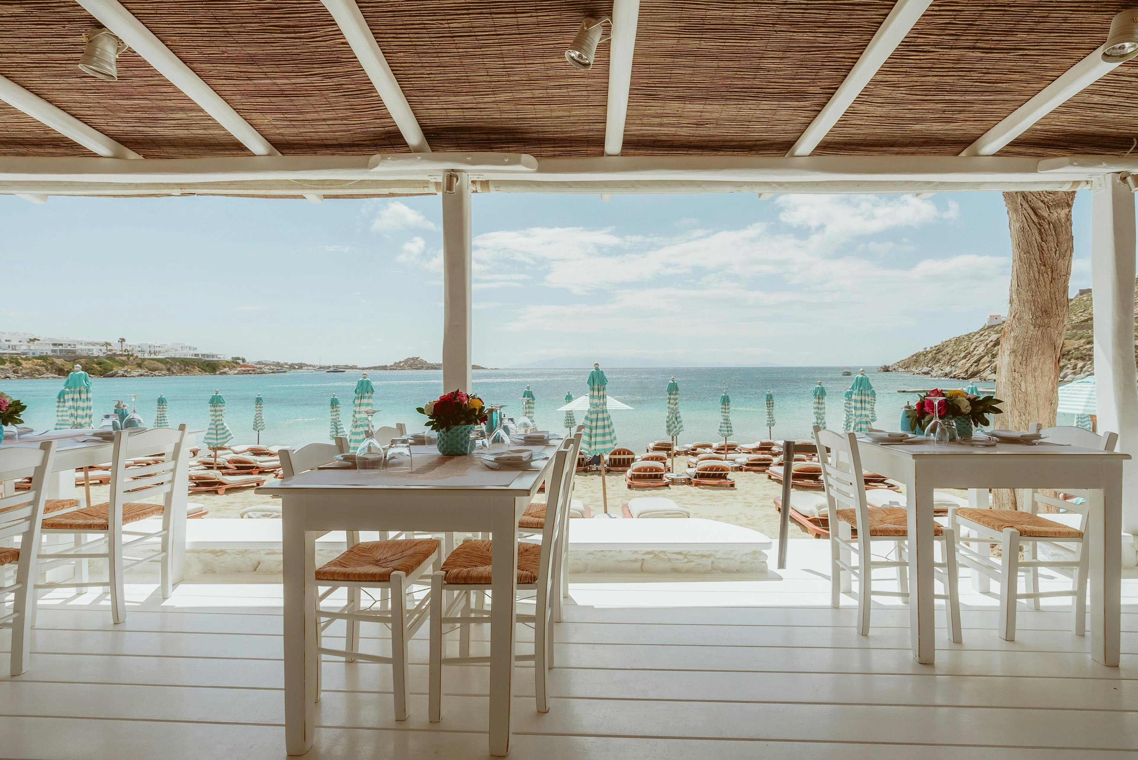
[[[199,358],[148,358],[145,356],[100,356],[79,361],[93,378],[159,378],[178,374],[261,374],[262,370],[238,362],[209,362]],[[53,356],[0,356],[0,380],[66,378],[75,362]]]

